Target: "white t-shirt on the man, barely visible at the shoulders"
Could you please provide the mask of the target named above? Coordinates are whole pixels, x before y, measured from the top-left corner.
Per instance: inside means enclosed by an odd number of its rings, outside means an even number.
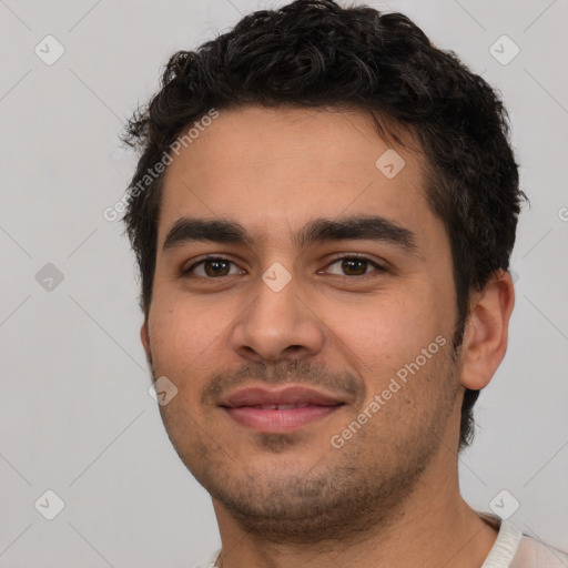
[[[497,539],[479,568],[568,568],[568,555],[524,535],[510,523],[479,513],[499,529]],[[195,568],[214,568],[221,549]]]

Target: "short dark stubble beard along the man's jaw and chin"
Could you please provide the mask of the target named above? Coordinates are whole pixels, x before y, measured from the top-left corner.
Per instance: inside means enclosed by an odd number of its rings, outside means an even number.
[[[280,544],[356,541],[367,538],[371,527],[386,527],[403,514],[442,446],[459,385],[455,353],[446,349],[439,356],[444,361],[433,366],[427,381],[439,394],[422,414],[412,410],[409,426],[388,427],[384,422],[390,437],[383,434],[376,444],[373,436],[377,430],[366,425],[341,449],[317,448],[320,459],[314,449],[314,466],[295,474],[278,468],[277,460],[275,467],[263,471],[237,464],[227,448],[206,436],[202,425],[192,424],[183,407],[173,412],[160,407],[160,412],[184,465],[244,531]],[[403,413],[405,394],[395,396],[400,397],[398,409]],[[381,415],[387,408],[373,418],[378,427],[378,420],[387,418]],[[410,412],[412,405],[406,408]],[[278,455],[293,452],[294,437],[264,434],[260,444],[264,453]]]

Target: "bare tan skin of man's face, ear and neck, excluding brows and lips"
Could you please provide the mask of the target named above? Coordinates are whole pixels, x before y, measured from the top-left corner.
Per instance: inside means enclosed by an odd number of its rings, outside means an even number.
[[[474,568],[495,541],[459,495],[459,417],[464,388],[485,387],[505,355],[513,283],[499,271],[471,296],[455,354],[449,241],[426,204],[424,158],[410,134],[403,140],[381,139],[358,112],[250,106],[220,112],[166,170],[141,338],[153,377],[179,389],[160,412],[212,495],[224,568]],[[393,179],[375,166],[388,148],[406,162]],[[371,214],[413,231],[418,254],[373,240],[301,248],[293,239],[315,217]],[[252,244],[163,251],[182,216],[234,220]],[[346,273],[335,256],[348,253],[386,270]],[[233,264],[222,276],[203,264],[182,274],[205,254]],[[275,262],[292,277],[280,292],[262,280]],[[333,447],[332,436],[437,336],[445,345]],[[285,383],[347,404],[287,434],[252,430],[216,405],[237,386]]]

